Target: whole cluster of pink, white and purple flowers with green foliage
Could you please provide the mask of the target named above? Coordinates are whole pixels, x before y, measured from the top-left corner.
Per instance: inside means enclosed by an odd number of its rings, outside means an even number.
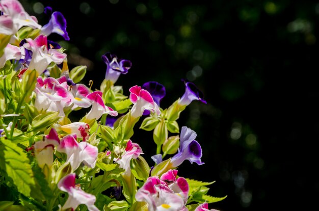
[[[201,91],[184,81],[184,94],[167,109],[157,82],[126,96],[115,84],[132,64],[110,52],[100,89],[91,90],[81,84],[86,66],[69,70],[65,49],[49,40],[51,33],[69,40],[64,16],[44,12],[51,18],[42,26],[17,0],[0,0],[0,188],[8,192],[0,206],[200,211],[223,200],[207,195],[213,182],[177,175],[185,160],[204,164],[195,131],[177,123],[193,100],[206,103]],[[72,122],[81,109],[88,112]],[[153,131],[151,167],[131,140],[140,119],[140,129]]]

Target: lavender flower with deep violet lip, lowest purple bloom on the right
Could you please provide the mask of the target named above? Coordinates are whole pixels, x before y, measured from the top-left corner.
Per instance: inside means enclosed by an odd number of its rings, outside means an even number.
[[[194,130],[185,126],[181,128],[178,152],[171,159],[173,167],[179,166],[185,160],[189,160],[192,164],[193,162],[198,165],[204,164],[201,161],[202,148],[195,140],[196,136]]]

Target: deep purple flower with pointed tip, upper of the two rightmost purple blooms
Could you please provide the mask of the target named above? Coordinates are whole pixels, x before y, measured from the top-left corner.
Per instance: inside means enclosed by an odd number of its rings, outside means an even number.
[[[178,104],[180,105],[189,105],[193,100],[199,100],[203,103],[207,103],[203,99],[203,93],[195,86],[192,82],[187,82],[182,80],[185,83],[185,93],[179,99]]]

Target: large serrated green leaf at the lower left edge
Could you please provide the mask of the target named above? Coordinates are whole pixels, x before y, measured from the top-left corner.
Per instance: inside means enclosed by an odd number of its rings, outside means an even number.
[[[30,196],[35,180],[30,160],[23,149],[11,141],[0,139],[0,168],[8,174],[20,193]]]

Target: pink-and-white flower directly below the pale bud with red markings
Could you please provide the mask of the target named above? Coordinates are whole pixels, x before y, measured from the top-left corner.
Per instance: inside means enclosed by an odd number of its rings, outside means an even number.
[[[67,135],[61,139],[57,147],[59,152],[66,153],[66,162],[69,162],[73,171],[83,162],[84,165],[94,168],[98,149],[87,142],[76,141],[76,135]]]

